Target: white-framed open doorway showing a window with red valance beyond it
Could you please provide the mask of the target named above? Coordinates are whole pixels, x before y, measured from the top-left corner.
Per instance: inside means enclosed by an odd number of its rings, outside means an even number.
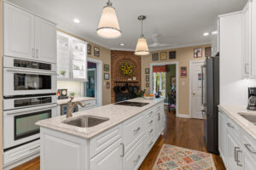
[[[161,94],[169,111],[178,115],[178,62],[150,64],[150,94]]]

